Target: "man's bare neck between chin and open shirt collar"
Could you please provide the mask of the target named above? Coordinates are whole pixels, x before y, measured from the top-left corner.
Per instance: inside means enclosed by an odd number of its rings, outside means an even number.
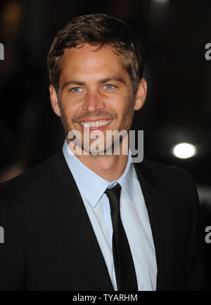
[[[75,156],[79,158],[79,160],[82,161],[82,163],[84,163],[87,168],[93,170],[94,173],[101,176],[102,178],[108,181],[117,180],[118,178],[120,178],[120,176],[124,172],[124,168],[127,165],[128,154],[122,154],[122,142],[120,144],[120,154],[118,155],[104,154],[94,156],[93,154],[75,154]]]

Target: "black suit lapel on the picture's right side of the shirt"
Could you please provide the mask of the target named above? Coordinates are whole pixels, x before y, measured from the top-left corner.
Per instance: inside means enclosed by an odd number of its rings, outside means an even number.
[[[167,290],[172,268],[172,228],[169,203],[160,181],[145,161],[134,163],[151,223],[158,275],[156,290]]]

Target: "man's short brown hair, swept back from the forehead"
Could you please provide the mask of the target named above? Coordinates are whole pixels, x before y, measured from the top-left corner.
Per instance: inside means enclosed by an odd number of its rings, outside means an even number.
[[[143,46],[122,20],[98,13],[74,18],[58,31],[48,54],[49,79],[59,89],[60,59],[65,49],[82,46],[86,43],[99,49],[108,44],[117,54],[122,54],[124,67],[129,74],[134,92],[136,92],[143,73]]]

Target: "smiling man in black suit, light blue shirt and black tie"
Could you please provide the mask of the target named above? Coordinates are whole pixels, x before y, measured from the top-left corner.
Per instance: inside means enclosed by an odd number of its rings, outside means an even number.
[[[49,160],[1,185],[0,289],[200,290],[191,178],[124,154],[146,99],[138,37],[108,15],[80,16],[56,35],[48,67],[66,139]],[[119,142],[106,138],[122,130]]]

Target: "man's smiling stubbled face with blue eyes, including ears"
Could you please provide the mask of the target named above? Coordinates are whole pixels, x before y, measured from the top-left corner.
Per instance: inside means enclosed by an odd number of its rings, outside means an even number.
[[[142,106],[132,96],[122,56],[108,45],[95,50],[96,46],[90,44],[65,50],[58,92],[60,103],[50,86],[53,110],[62,118],[66,135],[71,130],[81,133],[82,148],[87,131],[89,135],[103,132],[105,141],[107,130],[129,131],[134,109]],[[93,141],[90,139],[90,144]]]

